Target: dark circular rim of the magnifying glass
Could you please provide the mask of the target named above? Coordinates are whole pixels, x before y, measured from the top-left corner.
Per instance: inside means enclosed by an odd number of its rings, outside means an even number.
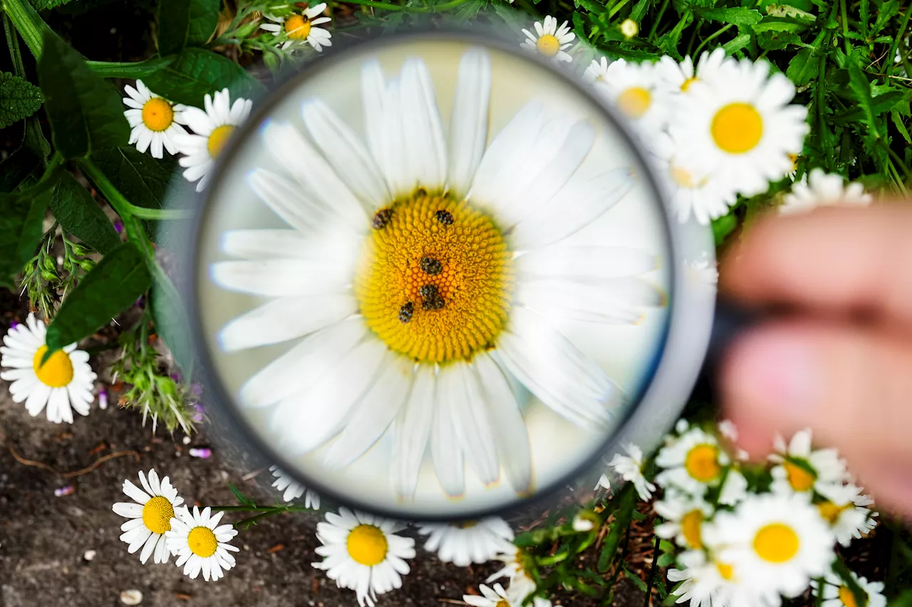
[[[202,267],[202,263],[199,262],[201,259],[201,235],[204,226],[207,224],[207,217],[215,207],[213,201],[216,198],[215,195],[218,194],[219,184],[222,182],[223,173],[232,168],[234,157],[243,149],[246,141],[251,137],[256,136],[260,125],[265,118],[268,118],[272,114],[273,109],[282,103],[287,95],[298,87],[302,81],[324,69],[332,68],[333,63],[335,62],[334,60],[345,60],[349,57],[371,57],[371,51],[373,50],[380,50],[389,46],[398,46],[403,43],[432,43],[437,41],[459,42],[464,43],[467,46],[491,48],[492,50],[503,52],[512,55],[513,57],[519,57],[523,61],[537,64],[537,67],[547,70],[554,75],[554,77],[557,77],[562,81],[566,87],[575,89],[575,92],[578,95],[587,98],[589,102],[602,113],[603,118],[606,118],[607,123],[610,124],[613,129],[617,130],[618,135],[632,151],[636,159],[633,164],[638,165],[637,170],[641,169],[644,172],[642,177],[644,178],[645,185],[649,190],[652,190],[652,193],[655,195],[658,204],[661,206],[661,215],[665,220],[662,221],[662,230],[665,232],[665,242],[668,243],[669,260],[673,261],[679,259],[679,242],[677,241],[675,231],[671,230],[669,225],[672,218],[668,213],[668,207],[666,205],[666,201],[668,200],[666,190],[664,189],[663,184],[656,178],[648,156],[642,149],[642,144],[637,141],[637,135],[633,132],[632,127],[628,126],[627,119],[623,118],[616,108],[613,108],[606,103],[606,100],[595,95],[594,91],[591,90],[591,87],[587,87],[586,83],[583,82],[580,77],[556,67],[553,62],[548,61],[544,57],[529,53],[517,44],[511,44],[511,42],[505,41],[498,36],[492,36],[490,32],[486,31],[484,36],[482,36],[476,32],[469,32],[451,27],[441,30],[440,26],[437,26],[433,31],[416,27],[408,31],[399,31],[391,36],[377,36],[355,40],[344,46],[331,46],[324,49],[323,57],[318,57],[310,65],[307,65],[301,71],[288,77],[285,82],[275,87],[263,99],[259,100],[254,106],[254,111],[251,116],[247,118],[243,125],[235,130],[233,137],[229,140],[220,154],[220,158],[216,162],[215,170],[212,173],[212,180],[209,187],[201,194],[197,195],[198,200],[196,201],[196,208],[198,211],[194,213],[192,225],[189,230],[190,246],[188,249],[190,257],[188,258],[188,262],[190,267],[186,273],[187,281],[184,285],[184,292],[188,304],[192,343],[200,362],[198,374],[202,379],[206,392],[210,395],[207,397],[207,400],[211,399],[214,404],[218,406],[225,418],[224,421],[227,423],[230,430],[235,433],[235,436],[240,436],[243,441],[252,445],[259,455],[281,468],[285,474],[294,478],[307,489],[316,491],[321,498],[329,499],[341,506],[364,510],[389,519],[403,520],[403,518],[406,518],[407,520],[416,522],[478,520],[488,516],[500,516],[510,511],[543,506],[545,502],[553,503],[554,499],[556,499],[566,487],[574,484],[575,479],[580,478],[586,471],[592,471],[599,460],[605,457],[606,453],[615,452],[617,448],[620,447],[621,437],[624,436],[631,418],[634,417],[641,401],[643,401],[647,395],[648,388],[652,384],[652,381],[657,374],[658,367],[665,357],[669,330],[671,324],[675,321],[676,314],[673,302],[675,301],[675,291],[679,280],[679,269],[677,268],[677,264],[669,262],[668,268],[666,269],[668,272],[668,317],[665,319],[661,335],[658,337],[656,346],[654,347],[654,355],[649,362],[648,372],[642,374],[640,385],[637,386],[637,390],[634,392],[636,397],[630,397],[628,401],[629,404],[619,414],[620,419],[617,422],[615,430],[606,437],[606,440],[602,443],[600,448],[593,450],[589,457],[580,461],[547,485],[534,489],[534,492],[529,496],[517,495],[515,499],[506,504],[502,503],[490,507],[466,509],[465,511],[451,514],[436,513],[425,515],[410,510],[408,513],[404,511],[394,511],[374,503],[369,503],[368,501],[357,499],[344,491],[339,491],[320,482],[316,478],[308,478],[298,470],[297,466],[291,464],[285,457],[278,453],[260,433],[255,431],[252,425],[246,420],[244,413],[241,411],[241,406],[239,406],[236,399],[229,394],[225,386],[223,386],[218,374],[214,371],[216,367],[213,364],[212,355],[208,347],[208,340],[204,334],[202,324],[203,311],[200,305],[201,298],[199,289],[201,278],[205,277],[207,273]]]

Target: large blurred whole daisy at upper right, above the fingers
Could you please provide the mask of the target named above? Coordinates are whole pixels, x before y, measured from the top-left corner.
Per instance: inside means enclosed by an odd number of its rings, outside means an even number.
[[[792,170],[789,154],[801,153],[807,108],[788,105],[795,93],[766,61],[723,64],[712,83],[695,82],[678,97],[670,125],[684,168],[728,180],[744,196],[766,191]]]

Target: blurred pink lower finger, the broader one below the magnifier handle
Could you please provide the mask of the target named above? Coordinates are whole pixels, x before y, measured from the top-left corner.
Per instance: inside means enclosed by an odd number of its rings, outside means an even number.
[[[912,514],[912,347],[890,334],[798,320],[739,338],[720,377],[725,413],[753,458],[810,427],[879,503]]]

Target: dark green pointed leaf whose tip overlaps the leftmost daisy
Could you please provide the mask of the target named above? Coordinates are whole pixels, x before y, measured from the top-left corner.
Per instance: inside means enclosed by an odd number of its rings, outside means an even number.
[[[146,293],[150,283],[142,252],[132,242],[119,245],[67,295],[47,327],[47,351],[95,333]]]

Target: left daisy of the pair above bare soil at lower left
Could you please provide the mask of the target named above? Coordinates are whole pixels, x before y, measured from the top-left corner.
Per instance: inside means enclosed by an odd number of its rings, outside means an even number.
[[[150,555],[154,555],[154,562],[168,562],[171,551],[165,533],[171,530],[171,519],[183,498],[171,487],[168,477],[159,480],[154,469],[149,471],[148,480],[140,470],[140,484],[144,491],[124,480],[123,492],[136,503],[118,502],[113,506],[115,513],[130,519],[120,526],[120,540],[130,545],[130,554],[142,548],[142,563],[149,561]]]

